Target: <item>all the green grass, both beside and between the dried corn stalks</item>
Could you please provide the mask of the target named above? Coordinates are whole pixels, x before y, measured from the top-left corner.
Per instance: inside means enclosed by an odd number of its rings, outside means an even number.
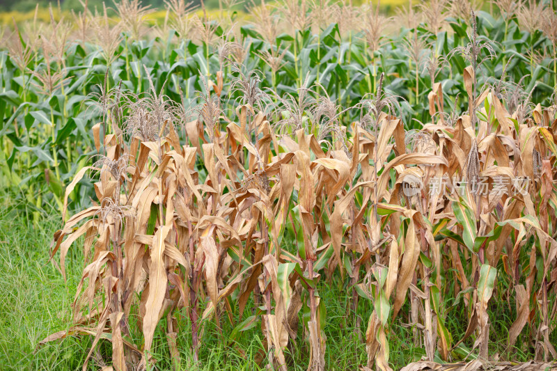
[[[60,219],[43,215],[38,225],[32,225],[24,218],[22,212],[17,211],[17,205],[14,205],[12,199],[0,192],[1,369],[81,370],[91,347],[90,336],[70,336],[37,348],[38,342],[50,333],[69,329],[71,326],[70,305],[83,268],[83,255],[79,251],[79,244],[72,246],[68,254],[68,282],[64,283],[58,269],[49,262],[50,241],[54,231],[61,225]],[[56,260],[57,257],[54,258],[54,261]],[[339,287],[337,282],[327,283],[323,278],[319,292],[327,308],[327,323],[324,326],[327,336],[327,369],[357,370],[360,365],[366,364],[366,347],[363,340],[372,311],[371,303],[366,299],[359,300],[357,313],[360,316],[360,326],[357,329],[353,313],[347,314],[346,310],[351,299],[350,287]],[[505,356],[503,349],[508,336],[506,329],[515,317],[509,309],[514,307],[514,303],[511,303],[509,308],[509,303],[504,299],[494,299],[496,300],[492,300],[489,308],[489,317],[492,319],[490,354],[498,352]],[[446,308],[450,310],[447,315],[449,331],[455,338],[460,338],[466,330],[466,313],[463,306],[451,305],[452,303],[446,303]],[[241,319],[237,308],[234,311],[235,323],[238,324]],[[251,315],[251,311],[248,312],[249,310],[246,310],[244,313],[244,319]],[[422,348],[414,346],[412,329],[404,325],[409,322],[408,303],[405,304],[402,313],[404,315],[391,324],[389,331],[390,363],[395,370],[424,356]],[[266,364],[262,343],[264,336],[260,323],[240,333],[240,336],[233,340],[230,338],[233,324],[223,317],[221,331],[217,329],[214,321],[208,320],[205,323],[201,339],[201,361],[195,365],[191,354],[189,321],[183,314],[184,312],[178,319],[178,349],[182,358],[182,370],[262,370]],[[157,361],[157,370],[171,368],[164,322],[162,320],[155,333],[153,358]],[[130,323],[134,323],[133,317]],[[134,333],[132,329],[132,338],[140,344],[140,331],[135,330]],[[517,343],[521,341],[527,341],[526,336],[521,335]],[[472,344],[473,339],[466,340],[458,354],[464,356]],[[101,342],[98,349],[103,358],[109,360],[109,342]],[[308,343],[303,339],[301,323],[295,344],[289,345],[285,354],[289,370],[307,369]],[[263,361],[258,365],[256,359],[260,361],[262,358]],[[532,359],[533,354],[524,354],[514,349],[510,358],[526,361]],[[96,370],[99,366],[93,361],[89,364],[91,370]]]

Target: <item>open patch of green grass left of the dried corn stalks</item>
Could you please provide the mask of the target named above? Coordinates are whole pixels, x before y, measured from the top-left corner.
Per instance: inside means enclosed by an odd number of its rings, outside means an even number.
[[[40,228],[32,228],[7,196],[0,201],[0,365],[5,370],[78,368],[88,341],[68,338],[34,352],[40,340],[70,324],[69,290],[79,267],[70,266],[65,285],[48,262],[49,240],[59,221],[45,217]],[[72,260],[77,260],[74,254]]]

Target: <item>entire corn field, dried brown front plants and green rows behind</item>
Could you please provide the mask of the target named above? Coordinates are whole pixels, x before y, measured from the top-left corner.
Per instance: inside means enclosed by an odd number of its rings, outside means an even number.
[[[407,371],[557,367],[553,3],[167,6],[3,28],[0,184],[30,223],[60,215],[64,278],[84,256],[72,327],[38,347],[185,370],[177,337],[198,364],[207,326],[232,349],[256,328],[261,368],[335,370],[326,287],[354,368],[393,370],[394,324],[423,352]]]

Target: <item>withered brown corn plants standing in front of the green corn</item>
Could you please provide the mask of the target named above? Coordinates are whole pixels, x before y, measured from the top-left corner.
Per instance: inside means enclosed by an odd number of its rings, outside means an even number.
[[[93,131],[97,150],[106,155],[79,171],[66,191],[65,205],[89,169],[98,174],[96,202],[71,216],[54,241],[53,255],[60,252],[65,274],[68,251],[84,236],[86,268],[74,326],[45,342],[93,334],[88,359],[108,337],[113,368],[141,368],[152,361],[153,334],[164,315],[178,365],[180,308],[191,322],[198,360],[203,322],[231,320],[233,297],[242,317],[253,295],[264,309],[242,326],[260,321],[269,367],[286,370],[285,349],[303,336],[308,368],[324,370],[327,339],[317,281],[338,274],[354,287],[351,308],[359,296],[372,303],[363,338],[367,368],[391,370],[389,326],[401,315],[414,326],[428,361],[435,354],[448,360],[470,336],[476,339],[471,352],[477,348],[487,358],[487,308],[501,290],[519,299],[509,347],[533,315],[538,357],[554,358],[554,209],[546,207],[547,216],[536,219],[534,205],[551,202],[557,146],[548,129],[554,123],[540,107],[509,113],[503,95],[488,87],[478,129],[463,115],[452,125],[426,123],[405,133],[400,97],[384,90],[382,74],[377,92],[355,107],[359,121],[345,133],[338,117],[347,110],[328,95],[315,97],[307,81],[299,98],[276,95],[280,108],[265,113],[258,102],[272,98],[258,87],[257,75],[240,67],[235,74],[232,90],[240,100],[231,118],[207,82],[198,120],[189,120],[182,114],[188,109],[152,83],[146,97],[121,98],[122,113],[111,103],[118,90],[100,96],[100,107],[118,122],[114,127],[124,130],[104,136]],[[342,138],[340,145],[324,143],[329,136]],[[519,188],[515,181],[525,177],[532,183]],[[425,188],[436,181],[439,194]],[[518,191],[508,196],[503,189]],[[296,236],[292,248],[281,243],[288,230]],[[524,246],[526,237],[537,245]],[[505,269],[496,268],[501,264]],[[448,279],[454,283],[444,285]],[[469,321],[462,339],[448,331],[441,300],[456,294],[464,297],[459,305]],[[547,310],[533,311],[532,297],[543,298]],[[304,305],[309,319],[299,329]],[[144,341],[131,342],[127,334],[138,326]]]

